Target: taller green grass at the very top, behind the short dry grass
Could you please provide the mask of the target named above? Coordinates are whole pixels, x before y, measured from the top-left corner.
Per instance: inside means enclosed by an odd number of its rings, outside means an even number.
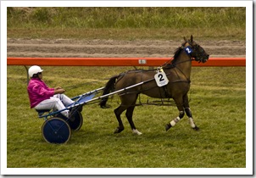
[[[245,8],[8,8],[8,26],[216,28],[240,27],[244,19]]]

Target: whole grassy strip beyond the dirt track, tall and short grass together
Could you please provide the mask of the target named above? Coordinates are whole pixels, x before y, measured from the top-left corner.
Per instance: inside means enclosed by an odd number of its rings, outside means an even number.
[[[245,8],[8,8],[8,37],[245,40]]]

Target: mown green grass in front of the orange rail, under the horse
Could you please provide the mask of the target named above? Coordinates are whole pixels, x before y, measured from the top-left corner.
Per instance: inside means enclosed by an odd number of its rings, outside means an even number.
[[[63,86],[75,97],[105,84],[106,78],[128,67],[43,67],[48,86]],[[107,71],[104,75],[102,71]],[[237,75],[239,74],[239,75]],[[200,131],[193,131],[184,117],[166,132],[164,125],[177,115],[174,106],[136,107],[134,121],[142,136],[125,131],[113,108],[84,106],[84,125],[64,145],[42,138],[43,120],[29,107],[26,73],[22,66],[7,68],[7,166],[8,168],[245,168],[246,114],[244,67],[194,67],[189,93],[192,114]],[[149,98],[150,100],[152,98]],[[147,97],[142,96],[142,102]]]

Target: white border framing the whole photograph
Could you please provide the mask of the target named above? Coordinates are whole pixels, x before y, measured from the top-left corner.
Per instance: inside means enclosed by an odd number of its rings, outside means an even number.
[[[7,168],[7,7],[246,7],[246,168]],[[1,1],[1,175],[252,175],[253,1]]]

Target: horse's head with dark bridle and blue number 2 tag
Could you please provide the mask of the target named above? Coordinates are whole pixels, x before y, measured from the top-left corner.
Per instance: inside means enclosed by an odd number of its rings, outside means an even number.
[[[191,36],[190,40],[187,40],[186,37],[184,37],[184,44],[183,47],[187,54],[191,55],[192,58],[194,58],[196,61],[205,63],[209,59],[209,54],[206,53],[200,45],[198,45],[197,42],[193,41],[193,36]]]

